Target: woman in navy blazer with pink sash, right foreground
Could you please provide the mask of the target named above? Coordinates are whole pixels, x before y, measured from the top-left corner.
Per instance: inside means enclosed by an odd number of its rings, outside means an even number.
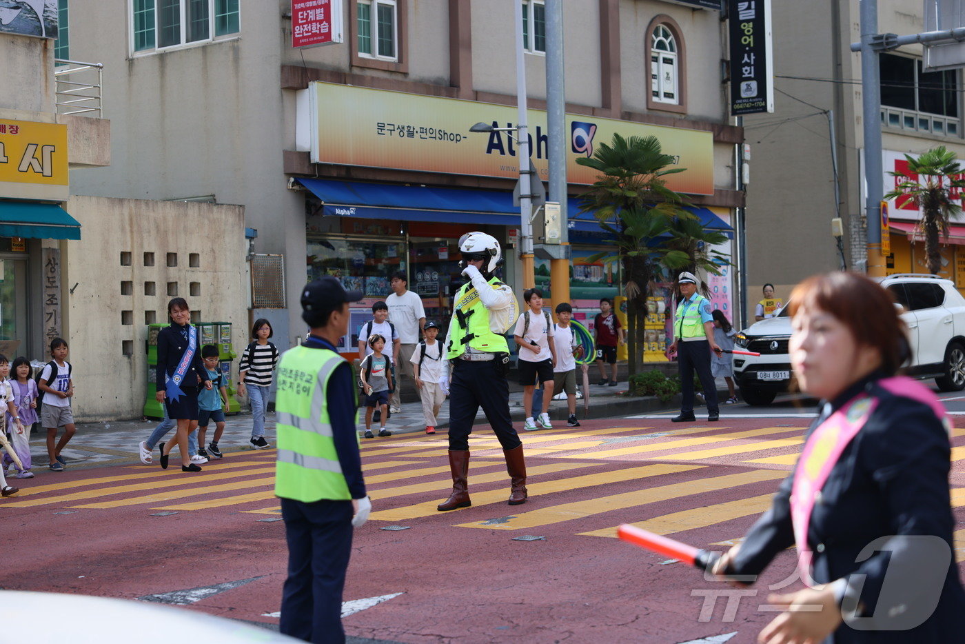
[[[821,412],[771,508],[714,572],[760,574],[797,543],[809,588],[768,597],[785,610],[760,631],[766,644],[961,641],[951,425],[924,385],[894,377],[909,350],[891,296],[836,272],[789,306],[791,364]]]

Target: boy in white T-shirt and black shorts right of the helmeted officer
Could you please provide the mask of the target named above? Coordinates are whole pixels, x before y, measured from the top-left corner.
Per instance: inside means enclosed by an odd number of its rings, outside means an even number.
[[[519,384],[523,386],[523,409],[526,411],[523,429],[527,432],[539,429],[533,418],[533,390],[538,381],[543,389],[543,412],[539,414],[538,422],[544,429],[551,430],[549,404],[553,400],[553,368],[556,367],[553,322],[549,311],[542,310],[542,291],[529,289],[523,293],[523,299],[529,308],[516,320],[512,332],[519,347]]]

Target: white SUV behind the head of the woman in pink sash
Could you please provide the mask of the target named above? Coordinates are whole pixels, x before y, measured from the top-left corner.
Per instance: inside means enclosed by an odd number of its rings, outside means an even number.
[[[902,307],[912,350],[907,372],[916,378],[935,378],[942,391],[965,389],[965,297],[954,283],[917,273],[878,281]],[[777,394],[792,390],[789,338],[786,307],[777,317],[756,322],[736,335],[738,349],[760,353],[733,356],[734,378],[748,405],[770,405]]]

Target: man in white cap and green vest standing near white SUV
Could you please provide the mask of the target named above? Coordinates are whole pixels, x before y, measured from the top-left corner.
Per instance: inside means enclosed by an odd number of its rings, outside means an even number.
[[[714,322],[710,302],[697,293],[697,277],[684,270],[676,278],[682,298],[677,303],[674,316],[674,344],[668,353],[677,354],[680,370],[680,415],[672,418],[675,423],[697,420],[694,416],[694,372],[701,378],[703,398],[707,402],[707,420],[719,417],[717,385],[710,373],[710,351],[718,355],[721,348],[714,342]]]

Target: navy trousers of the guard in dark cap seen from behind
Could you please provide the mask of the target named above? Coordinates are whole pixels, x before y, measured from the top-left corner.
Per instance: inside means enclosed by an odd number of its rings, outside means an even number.
[[[342,644],[342,591],[352,551],[352,502],[282,501],[289,576],[279,630],[306,642]]]

